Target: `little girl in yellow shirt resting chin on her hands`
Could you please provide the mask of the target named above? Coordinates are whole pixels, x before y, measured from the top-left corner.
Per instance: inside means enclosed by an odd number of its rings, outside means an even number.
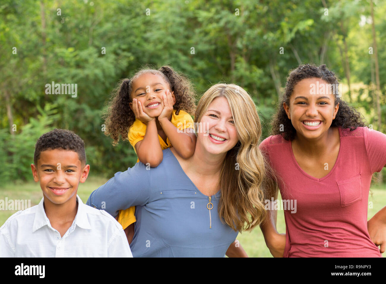
[[[115,89],[106,115],[106,132],[114,141],[128,139],[137,153],[137,162],[157,167],[163,150],[174,147],[190,158],[196,146],[193,119],[195,92],[184,75],[170,66],[143,69],[123,79]],[[134,207],[119,211],[118,222],[131,243],[134,236]]]

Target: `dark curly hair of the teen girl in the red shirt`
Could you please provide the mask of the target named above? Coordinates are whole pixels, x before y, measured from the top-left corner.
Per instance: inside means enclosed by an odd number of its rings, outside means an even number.
[[[291,120],[288,118],[286,112],[284,111],[283,103],[289,105],[289,97],[291,96],[295,85],[303,79],[307,78],[320,78],[327,83],[331,84],[330,87],[335,87],[335,94],[338,94],[337,90],[339,89],[339,83],[335,73],[328,70],[326,65],[299,65],[298,68],[292,70],[287,78],[286,87],[284,89],[283,98],[281,99],[278,110],[274,116],[272,122],[272,134],[283,135],[283,138],[286,140],[293,140],[296,135],[296,130],[292,125]],[[334,94],[331,92],[330,94]],[[339,96],[335,96],[335,104],[339,103],[339,109],[335,119],[332,121],[331,126],[341,126],[342,128],[350,128],[350,131],[356,129],[357,127],[365,127],[363,117],[357,112],[353,107],[347,105],[347,103],[340,99]],[[281,131],[283,130],[284,131]]]

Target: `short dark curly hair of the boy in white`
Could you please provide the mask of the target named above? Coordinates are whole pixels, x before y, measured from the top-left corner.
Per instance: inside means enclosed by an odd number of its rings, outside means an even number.
[[[85,142],[73,131],[54,129],[44,133],[36,141],[34,164],[40,159],[40,153],[46,150],[63,149],[78,153],[81,165],[86,165]]]

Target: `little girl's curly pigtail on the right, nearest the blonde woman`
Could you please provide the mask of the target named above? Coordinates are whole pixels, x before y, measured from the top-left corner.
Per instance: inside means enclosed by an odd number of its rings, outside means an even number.
[[[181,75],[173,70],[170,66],[162,66],[158,69],[164,77],[169,80],[171,90],[174,91],[174,96],[176,97],[176,103],[173,108],[176,110],[178,115],[179,111],[183,109],[184,111],[194,114],[196,105],[195,105],[195,92],[193,86],[190,83],[190,80],[184,75]]]

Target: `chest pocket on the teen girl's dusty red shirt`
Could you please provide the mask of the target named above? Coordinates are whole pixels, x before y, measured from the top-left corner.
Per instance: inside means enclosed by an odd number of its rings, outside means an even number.
[[[337,181],[340,191],[340,205],[347,206],[362,200],[361,174],[350,179]]]

